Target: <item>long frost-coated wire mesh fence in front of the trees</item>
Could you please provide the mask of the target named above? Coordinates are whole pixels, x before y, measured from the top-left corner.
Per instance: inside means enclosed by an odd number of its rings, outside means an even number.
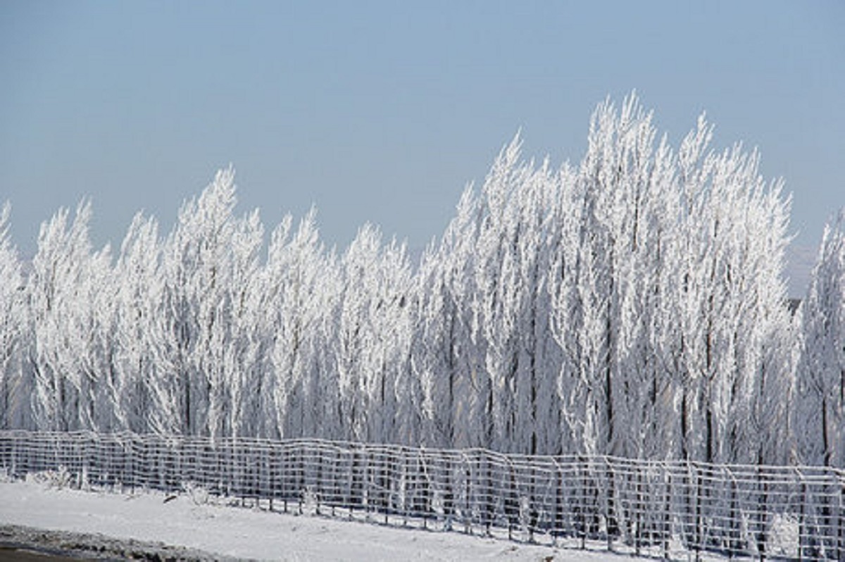
[[[845,559],[845,473],[320,439],[0,431],[8,478],[663,558]]]

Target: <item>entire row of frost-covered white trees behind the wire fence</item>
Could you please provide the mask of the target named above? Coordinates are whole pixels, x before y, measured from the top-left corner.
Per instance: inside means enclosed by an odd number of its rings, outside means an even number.
[[[7,205],[0,426],[845,466],[845,226],[791,314],[788,199],[711,134],[631,96],[577,165],[515,139],[415,264],[313,213],[268,242],[231,169],[114,253],[80,205],[24,266]]]

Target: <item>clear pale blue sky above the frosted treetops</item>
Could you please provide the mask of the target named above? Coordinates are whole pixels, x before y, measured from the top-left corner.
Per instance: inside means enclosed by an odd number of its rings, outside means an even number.
[[[272,227],[315,205],[419,248],[518,129],[555,164],[636,89],[673,145],[706,111],[793,194],[796,244],[845,205],[845,3],[0,2],[0,200],[23,253],[59,206],[119,245],[216,169]]]

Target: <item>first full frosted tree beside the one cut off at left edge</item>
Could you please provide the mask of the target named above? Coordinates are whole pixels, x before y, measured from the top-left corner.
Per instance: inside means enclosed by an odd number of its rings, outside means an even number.
[[[110,291],[108,248],[92,253],[90,204],[79,205],[68,225],[59,210],[41,226],[27,277],[32,337],[26,368],[34,379],[35,424],[45,429],[100,428],[111,407],[98,392],[110,368],[99,306]]]

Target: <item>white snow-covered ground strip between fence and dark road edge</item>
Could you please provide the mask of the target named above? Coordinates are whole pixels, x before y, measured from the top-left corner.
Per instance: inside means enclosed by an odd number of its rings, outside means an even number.
[[[96,533],[123,541],[164,543],[210,558],[273,560],[507,560],[597,562],[630,559],[456,532],[384,527],[320,516],[294,516],[226,505],[219,499],[164,494],[113,494],[57,488],[45,482],[0,482],[0,531],[8,526]],[[16,529],[17,542],[37,533]],[[20,538],[23,533],[25,539]],[[14,533],[12,533],[14,534]],[[3,533],[0,533],[0,540]],[[7,539],[8,540],[8,539]],[[137,546],[138,543],[132,543]],[[598,547],[597,547],[598,548]],[[118,551],[119,552],[119,551]],[[201,553],[199,554],[201,556]]]

